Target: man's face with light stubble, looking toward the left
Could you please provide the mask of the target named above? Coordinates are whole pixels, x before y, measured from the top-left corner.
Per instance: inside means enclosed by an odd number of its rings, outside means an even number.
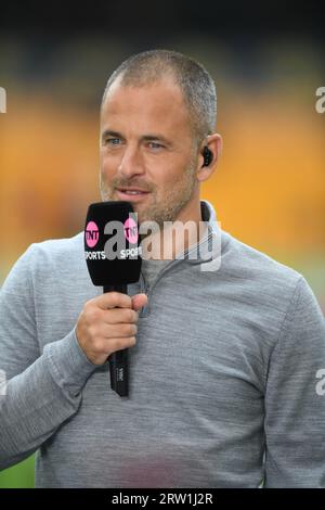
[[[101,113],[103,201],[131,202],[140,224],[194,219],[196,165],[177,85],[167,79],[143,87],[113,84]]]

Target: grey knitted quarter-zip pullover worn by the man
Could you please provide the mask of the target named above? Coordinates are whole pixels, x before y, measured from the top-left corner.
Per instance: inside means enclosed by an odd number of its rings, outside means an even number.
[[[208,202],[202,211],[200,244],[151,288],[143,276],[129,286],[148,306],[128,398],[75,335],[102,293],[82,232],[16,262],[0,293],[1,469],[38,450],[38,487],[325,487],[320,306],[301,275],[220,230]]]

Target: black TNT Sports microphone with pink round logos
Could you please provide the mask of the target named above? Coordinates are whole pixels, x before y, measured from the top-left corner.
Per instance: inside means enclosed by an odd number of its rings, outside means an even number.
[[[140,278],[138,215],[130,202],[90,204],[84,227],[84,257],[90,278],[104,292],[128,293],[128,284]],[[110,387],[118,395],[129,395],[128,349],[108,357]]]

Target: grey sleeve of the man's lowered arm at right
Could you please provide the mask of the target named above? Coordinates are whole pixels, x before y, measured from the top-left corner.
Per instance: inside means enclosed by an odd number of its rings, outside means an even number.
[[[324,375],[324,316],[300,277],[269,362],[264,487],[325,487]]]

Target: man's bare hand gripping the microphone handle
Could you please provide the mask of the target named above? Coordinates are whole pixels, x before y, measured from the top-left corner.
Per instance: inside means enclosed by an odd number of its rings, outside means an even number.
[[[120,292],[107,292],[84,304],[76,335],[91,362],[103,365],[112,353],[135,345],[138,311],[146,303],[145,294],[130,297]]]

